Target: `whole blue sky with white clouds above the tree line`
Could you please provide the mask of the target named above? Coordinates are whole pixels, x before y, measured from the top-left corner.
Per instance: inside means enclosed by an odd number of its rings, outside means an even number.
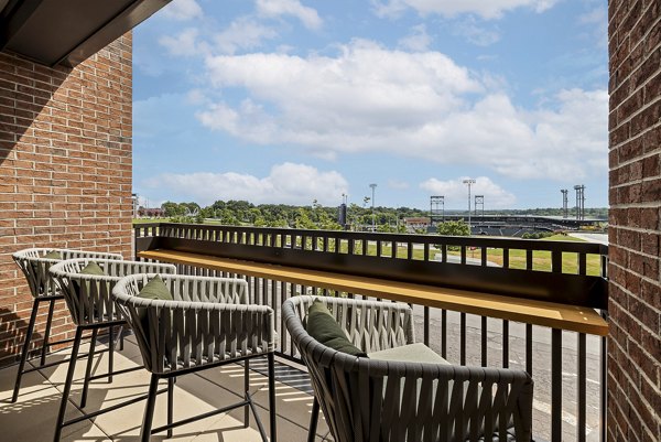
[[[607,84],[606,0],[173,0],[133,32],[133,192],[605,207]]]

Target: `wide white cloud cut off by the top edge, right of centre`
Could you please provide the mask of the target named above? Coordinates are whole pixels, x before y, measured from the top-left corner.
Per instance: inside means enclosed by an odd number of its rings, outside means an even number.
[[[503,13],[518,8],[543,12],[556,2],[557,0],[372,0],[379,17],[398,17],[410,8],[421,15],[456,17],[468,13],[486,20],[499,19]]]

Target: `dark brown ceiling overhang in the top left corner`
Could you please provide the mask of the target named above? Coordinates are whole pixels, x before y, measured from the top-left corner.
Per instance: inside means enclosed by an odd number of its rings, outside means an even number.
[[[0,0],[0,51],[73,67],[171,0]]]

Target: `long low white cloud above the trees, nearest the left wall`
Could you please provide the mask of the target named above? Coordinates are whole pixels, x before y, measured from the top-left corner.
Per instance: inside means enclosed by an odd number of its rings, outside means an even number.
[[[336,205],[348,184],[335,171],[323,172],[306,164],[274,165],[268,176],[258,177],[235,172],[164,173],[144,182],[148,188],[164,188],[182,201],[202,205],[216,200],[246,200],[254,204],[307,205],[317,200],[323,205]]]

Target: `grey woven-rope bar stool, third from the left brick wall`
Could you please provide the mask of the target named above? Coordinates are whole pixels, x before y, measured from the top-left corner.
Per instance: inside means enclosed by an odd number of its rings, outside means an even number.
[[[149,292],[149,293],[148,293]],[[273,310],[250,303],[248,283],[236,278],[133,274],[117,283],[112,297],[131,324],[151,373],[141,440],[198,419],[243,408],[254,416],[262,441],[267,432],[257,414],[249,389],[249,360],[267,357],[269,367],[270,441],[275,442],[275,328]],[[209,412],[172,422],[173,398],[167,401],[167,424],[152,429],[160,379],[172,379],[226,364],[243,363],[243,400]],[[172,390],[170,390],[172,391]]]

